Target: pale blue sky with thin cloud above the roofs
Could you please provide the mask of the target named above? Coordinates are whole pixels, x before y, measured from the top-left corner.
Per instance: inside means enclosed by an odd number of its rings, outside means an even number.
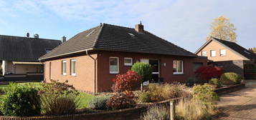
[[[255,0],[0,0],[0,34],[70,39],[100,23],[134,27],[191,52],[206,41],[210,24],[226,16],[237,29],[237,43],[256,46]]]

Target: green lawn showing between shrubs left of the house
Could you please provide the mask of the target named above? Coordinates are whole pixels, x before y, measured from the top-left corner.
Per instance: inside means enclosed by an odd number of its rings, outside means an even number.
[[[38,86],[40,87],[40,84],[42,84],[41,82],[27,82],[27,83],[19,83],[21,85],[26,85],[26,84],[30,84],[32,86]],[[0,85],[0,89],[4,89],[6,86],[8,85]],[[1,98],[3,97],[4,95],[0,95],[0,101],[1,101]],[[80,92],[80,105],[79,105],[79,108],[80,109],[84,109],[87,107],[87,105],[89,104],[89,101],[90,99],[93,99],[93,95],[91,94],[85,94],[83,92]]]

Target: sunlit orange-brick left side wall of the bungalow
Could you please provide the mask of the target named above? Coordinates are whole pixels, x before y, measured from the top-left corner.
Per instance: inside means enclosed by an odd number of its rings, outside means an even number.
[[[97,54],[91,55],[97,58]],[[76,75],[70,75],[70,61],[76,59]],[[62,61],[67,61],[67,74],[62,75]],[[51,66],[50,66],[51,63]],[[51,61],[44,61],[44,80],[49,82],[50,79],[65,82],[75,86],[75,89],[80,91],[93,92],[93,68],[94,61],[90,56],[75,56],[65,59],[56,59]],[[51,68],[51,69],[50,69]],[[97,73],[96,73],[97,74]]]

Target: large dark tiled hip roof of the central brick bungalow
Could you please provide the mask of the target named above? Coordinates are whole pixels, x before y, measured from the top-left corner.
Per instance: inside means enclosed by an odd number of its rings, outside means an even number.
[[[82,31],[40,58],[49,59],[86,50],[127,51],[145,54],[196,56],[169,41],[145,31],[103,24]]]

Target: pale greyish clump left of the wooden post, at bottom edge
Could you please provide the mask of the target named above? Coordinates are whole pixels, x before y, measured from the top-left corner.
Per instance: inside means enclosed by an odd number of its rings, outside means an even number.
[[[151,106],[148,108],[146,113],[143,114],[142,119],[144,120],[168,120],[169,111],[165,106]]]

